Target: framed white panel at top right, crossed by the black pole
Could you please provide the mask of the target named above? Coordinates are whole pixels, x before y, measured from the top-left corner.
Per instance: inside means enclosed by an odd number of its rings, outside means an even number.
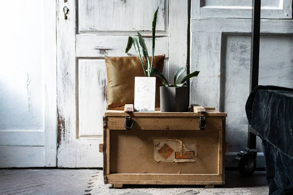
[[[262,0],[263,19],[292,19],[292,0]],[[251,0],[192,0],[191,18],[251,18]]]

